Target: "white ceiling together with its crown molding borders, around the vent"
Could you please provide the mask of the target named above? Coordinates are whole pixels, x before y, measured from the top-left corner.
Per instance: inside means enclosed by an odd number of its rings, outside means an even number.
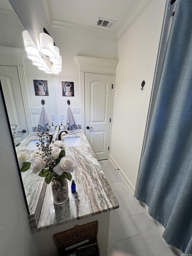
[[[153,0],[43,0],[50,28],[118,40]],[[110,28],[97,18],[115,20]]]

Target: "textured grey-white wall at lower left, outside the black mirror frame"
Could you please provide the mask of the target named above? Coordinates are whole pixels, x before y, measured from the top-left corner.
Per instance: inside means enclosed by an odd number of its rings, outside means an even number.
[[[0,94],[0,255],[41,255],[36,249]]]

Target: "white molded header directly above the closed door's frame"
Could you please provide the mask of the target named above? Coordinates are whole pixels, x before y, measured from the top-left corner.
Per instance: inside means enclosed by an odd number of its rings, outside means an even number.
[[[119,60],[114,59],[101,59],[86,56],[75,56],[79,64],[79,71],[98,73],[98,74],[116,74],[116,68]]]

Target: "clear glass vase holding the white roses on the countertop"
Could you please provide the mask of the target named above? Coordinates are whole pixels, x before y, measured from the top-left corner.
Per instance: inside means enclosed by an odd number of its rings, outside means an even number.
[[[67,179],[52,179],[51,188],[53,194],[53,202],[55,204],[65,203],[69,198]]]

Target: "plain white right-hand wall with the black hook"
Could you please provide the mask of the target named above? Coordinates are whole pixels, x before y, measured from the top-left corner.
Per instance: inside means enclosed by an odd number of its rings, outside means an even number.
[[[110,158],[134,193],[165,0],[149,5],[118,41]],[[146,84],[141,91],[141,83]]]

